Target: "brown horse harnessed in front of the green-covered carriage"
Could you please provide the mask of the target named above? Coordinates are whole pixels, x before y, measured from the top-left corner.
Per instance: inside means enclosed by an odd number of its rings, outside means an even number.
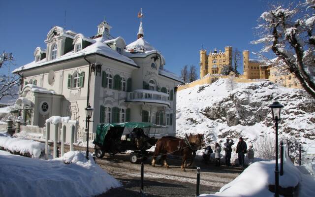
[[[158,140],[156,144],[156,149],[153,154],[152,166],[155,167],[156,158],[161,154],[161,160],[163,161],[163,165],[169,168],[169,165],[166,162],[166,157],[169,154],[172,155],[180,155],[182,158],[182,170],[185,171],[184,166],[188,159],[191,159],[191,164],[193,164],[195,151],[197,149],[201,149],[201,146],[204,145],[204,136],[203,134],[196,135],[187,135],[185,139],[180,139],[172,136],[165,136]],[[193,154],[194,153],[194,154]]]

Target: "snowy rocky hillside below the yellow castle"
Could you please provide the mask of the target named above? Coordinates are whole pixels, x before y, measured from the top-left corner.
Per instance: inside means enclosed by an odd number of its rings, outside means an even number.
[[[274,123],[268,107],[278,100],[282,110],[280,138],[304,144],[315,139],[315,100],[304,91],[268,81],[237,83],[229,91],[228,80],[195,86],[177,93],[176,134],[204,133],[208,142],[243,136],[253,142],[259,136],[274,137]],[[313,150],[314,151],[314,150]]]

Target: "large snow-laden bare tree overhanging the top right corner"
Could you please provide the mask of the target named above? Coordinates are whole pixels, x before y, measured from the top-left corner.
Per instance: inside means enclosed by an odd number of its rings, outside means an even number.
[[[315,0],[297,5],[272,5],[260,16],[257,29],[263,43],[260,54],[272,51],[281,61],[278,70],[293,73],[315,98]],[[273,63],[272,63],[273,64]]]

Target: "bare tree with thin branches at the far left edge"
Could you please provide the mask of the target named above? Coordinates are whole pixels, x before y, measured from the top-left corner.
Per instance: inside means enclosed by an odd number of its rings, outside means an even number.
[[[13,65],[12,53],[3,52],[0,54],[0,99],[3,97],[13,98],[18,94],[20,76],[10,72],[10,66]],[[7,74],[3,74],[5,71]]]

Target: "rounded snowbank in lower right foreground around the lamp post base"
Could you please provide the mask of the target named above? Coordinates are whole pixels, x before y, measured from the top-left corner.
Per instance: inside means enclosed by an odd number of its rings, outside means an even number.
[[[275,185],[275,161],[256,162],[250,165],[232,182],[223,186],[220,192],[212,195],[200,195],[202,197],[273,197],[268,185]],[[284,175],[279,176],[281,187],[296,187],[299,183],[303,184],[303,176],[300,171],[290,162],[284,163]],[[315,180],[313,178],[313,188]],[[308,183],[308,185],[312,185]],[[306,186],[304,186],[306,187]],[[314,189],[308,188],[311,192]],[[310,194],[309,192],[307,192]],[[314,193],[313,193],[314,194]]]

